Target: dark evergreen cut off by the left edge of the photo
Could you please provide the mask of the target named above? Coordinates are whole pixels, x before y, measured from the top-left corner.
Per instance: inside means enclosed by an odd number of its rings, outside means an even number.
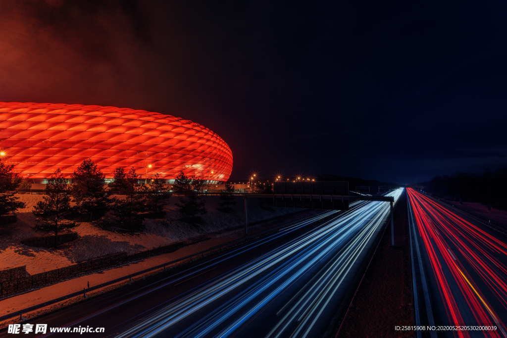
[[[0,216],[25,206],[14,196],[15,190],[21,183],[21,178],[12,171],[13,168],[14,165],[8,165],[0,160]]]

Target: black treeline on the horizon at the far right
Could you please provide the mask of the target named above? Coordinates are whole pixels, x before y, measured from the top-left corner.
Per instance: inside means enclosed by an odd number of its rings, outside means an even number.
[[[480,174],[456,173],[436,176],[423,183],[432,194],[461,202],[479,202],[507,210],[507,168]]]

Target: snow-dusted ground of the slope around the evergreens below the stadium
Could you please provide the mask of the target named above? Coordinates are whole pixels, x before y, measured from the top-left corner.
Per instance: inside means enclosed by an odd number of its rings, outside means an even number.
[[[20,241],[45,234],[33,229],[35,217],[31,213],[43,195],[19,194],[17,197],[26,203],[26,207],[18,210],[16,223],[0,227],[0,270],[26,265],[29,274],[37,274],[110,253],[134,253],[203,234],[218,238],[224,236],[227,229],[244,225],[243,202],[239,198],[235,213],[224,214],[216,210],[218,197],[206,197],[208,212],[203,216],[205,223],[196,227],[178,220],[179,214],[174,206],[177,197],[171,197],[165,208],[166,218],[146,219],[146,230],[142,233],[116,233],[102,230],[89,222],[81,222],[72,230],[79,235],[73,242],[63,244],[58,249],[30,247]],[[259,201],[252,200],[248,210],[249,221],[256,222],[299,209],[262,206]]]

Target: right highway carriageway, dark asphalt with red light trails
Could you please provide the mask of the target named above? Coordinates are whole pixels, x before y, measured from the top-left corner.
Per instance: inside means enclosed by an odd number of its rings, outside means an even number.
[[[503,236],[414,189],[408,188],[407,193],[418,289],[416,325],[453,326],[419,331],[418,336],[507,336],[507,244]]]

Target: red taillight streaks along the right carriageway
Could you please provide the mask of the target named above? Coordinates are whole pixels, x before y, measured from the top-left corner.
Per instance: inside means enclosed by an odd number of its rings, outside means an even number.
[[[407,193],[451,324],[472,325],[463,322],[464,314],[471,313],[478,325],[498,327],[498,331],[484,332],[485,335],[500,336],[501,332],[507,336],[505,324],[491,305],[494,300],[503,311],[507,308],[507,269],[495,257],[504,256],[507,245],[415,190],[409,188]],[[453,252],[459,253],[458,257]],[[457,288],[452,288],[451,283]],[[496,299],[488,301],[485,289]],[[459,307],[457,298],[464,298],[468,307]],[[468,336],[468,332],[456,334]]]

